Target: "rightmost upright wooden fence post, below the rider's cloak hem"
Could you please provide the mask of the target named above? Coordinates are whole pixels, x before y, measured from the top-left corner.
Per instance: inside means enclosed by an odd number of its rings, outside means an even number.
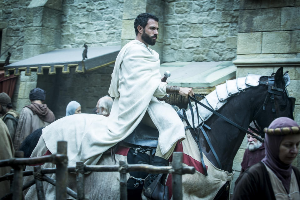
[[[175,172],[172,174],[173,199],[182,200],[182,152],[173,153],[172,167]]]

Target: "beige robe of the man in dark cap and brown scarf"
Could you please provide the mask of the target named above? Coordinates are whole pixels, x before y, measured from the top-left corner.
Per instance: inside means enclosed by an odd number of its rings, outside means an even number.
[[[44,122],[38,115],[34,115],[30,108],[24,107],[21,110],[20,118],[15,134],[15,138],[13,141],[13,146],[17,151],[23,140],[33,131],[38,128],[46,127],[50,123]]]

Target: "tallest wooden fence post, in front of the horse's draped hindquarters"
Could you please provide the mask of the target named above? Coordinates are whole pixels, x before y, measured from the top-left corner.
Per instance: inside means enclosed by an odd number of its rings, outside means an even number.
[[[57,154],[63,154],[63,157],[56,157],[56,200],[67,199],[68,182],[68,157],[67,141],[57,142]]]

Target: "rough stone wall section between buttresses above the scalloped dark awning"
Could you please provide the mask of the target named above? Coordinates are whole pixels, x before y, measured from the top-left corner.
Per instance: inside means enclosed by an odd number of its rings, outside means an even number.
[[[61,48],[121,44],[123,0],[63,0]]]

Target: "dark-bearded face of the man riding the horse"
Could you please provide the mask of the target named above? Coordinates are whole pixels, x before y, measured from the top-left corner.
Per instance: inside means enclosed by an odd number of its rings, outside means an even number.
[[[154,19],[149,19],[148,24],[143,30],[142,40],[149,45],[154,45],[158,35],[158,22]]]

